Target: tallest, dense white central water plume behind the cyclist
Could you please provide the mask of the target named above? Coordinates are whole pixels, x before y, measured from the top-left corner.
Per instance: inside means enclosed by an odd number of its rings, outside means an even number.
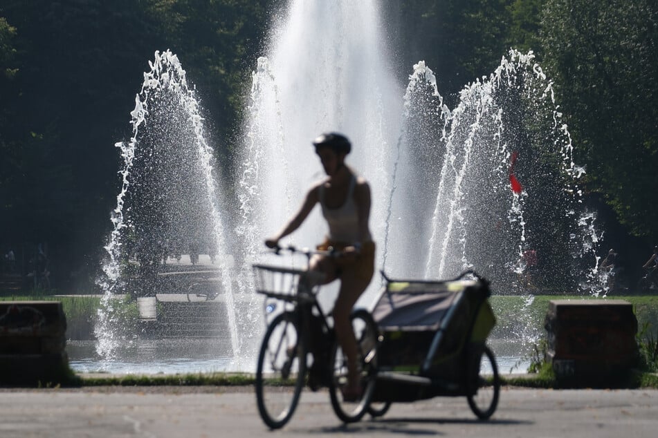
[[[390,73],[377,9],[374,1],[291,1],[286,21],[273,30],[268,56],[253,74],[237,175],[245,266],[259,258],[264,238],[284,225],[304,191],[324,178],[311,140],[327,131],[349,137],[347,162],[370,182],[381,257],[401,88]],[[326,231],[316,209],[289,242],[313,247]]]

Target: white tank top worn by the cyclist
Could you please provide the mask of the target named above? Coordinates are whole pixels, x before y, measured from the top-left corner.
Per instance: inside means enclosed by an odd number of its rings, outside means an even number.
[[[354,187],[356,186],[356,176],[352,175],[347,189],[345,203],[336,209],[330,209],[325,204],[325,184],[320,185],[320,205],[322,205],[322,216],[325,216],[329,224],[329,240],[336,242],[356,242],[358,239],[358,212],[356,211],[356,202],[354,202]],[[369,240],[369,236],[363,236],[364,240]]]

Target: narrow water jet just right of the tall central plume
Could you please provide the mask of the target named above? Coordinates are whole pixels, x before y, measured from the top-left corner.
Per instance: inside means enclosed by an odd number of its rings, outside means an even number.
[[[432,211],[437,198],[445,149],[442,139],[450,111],[437,89],[437,79],[424,61],[414,66],[404,95],[403,126],[397,151],[390,216],[384,234],[383,269],[393,276],[422,278],[421,260],[426,260],[432,229]],[[410,230],[413,230],[410,232]]]

